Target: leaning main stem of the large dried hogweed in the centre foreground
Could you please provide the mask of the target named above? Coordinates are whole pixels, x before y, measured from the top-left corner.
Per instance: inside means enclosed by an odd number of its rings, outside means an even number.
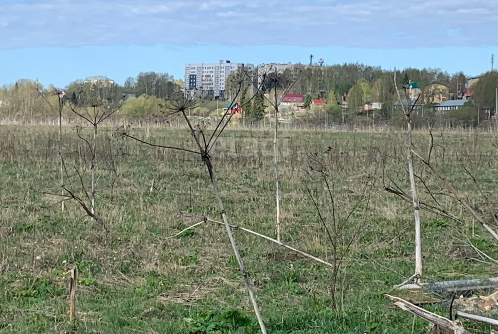
[[[218,190],[218,183],[216,180],[215,173],[213,171],[213,165],[211,164],[211,159],[209,158],[209,155],[206,153],[206,151],[202,148],[201,142],[199,141],[199,138],[195,134],[195,130],[192,127],[192,124],[190,123],[190,120],[188,119],[187,114],[185,113],[184,110],[182,110],[181,112],[183,114],[183,117],[185,118],[185,121],[187,122],[187,124],[189,126],[192,137],[194,137],[194,140],[199,148],[199,152],[202,155],[202,161],[208,169],[209,178],[211,179],[211,184],[213,186],[213,192],[214,192],[215,197],[216,197],[216,202],[218,203],[218,209],[221,212],[223,224],[225,225],[225,229],[227,230],[227,235],[228,235],[228,239],[230,240],[230,244],[232,245],[232,250],[234,251],[235,257],[236,257],[237,262],[239,264],[239,268],[241,269],[241,272],[244,276],[244,280],[246,282],[246,287],[247,287],[248,292],[249,292],[249,298],[250,298],[252,307],[254,309],[254,314],[256,315],[257,322],[258,322],[259,328],[261,330],[261,334],[266,334],[267,333],[266,327],[264,326],[263,317],[261,316],[261,313],[259,312],[259,307],[257,305],[256,297],[254,295],[254,290],[252,288],[252,282],[251,282],[251,279],[249,276],[249,272],[247,271],[246,266],[244,265],[244,262],[242,261],[242,257],[241,257],[241,254],[239,252],[239,248],[237,247],[234,235],[232,233],[232,228],[230,227],[227,215],[225,213],[225,206],[223,205],[220,191]]]

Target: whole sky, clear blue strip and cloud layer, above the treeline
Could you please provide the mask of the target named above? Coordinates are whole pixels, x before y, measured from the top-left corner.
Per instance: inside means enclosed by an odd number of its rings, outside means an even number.
[[[498,57],[496,36],[498,0],[0,0],[0,85],[181,78],[186,62],[307,63],[310,53],[476,75]]]

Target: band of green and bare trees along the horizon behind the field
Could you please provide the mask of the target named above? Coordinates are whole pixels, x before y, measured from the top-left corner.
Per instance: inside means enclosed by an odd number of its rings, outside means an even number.
[[[292,69],[286,70],[282,76],[294,80],[291,92],[301,93],[306,101],[311,98],[324,98],[327,100],[327,110],[332,115],[344,112],[338,107],[337,99],[343,95],[348,95],[350,101],[354,102],[354,109],[366,102],[383,103],[382,112],[379,116],[389,118],[392,116],[392,103],[397,100],[397,93],[394,89],[393,72],[382,70],[380,67],[367,66],[363,64],[342,64],[332,66],[305,66],[296,65]],[[463,72],[448,74],[439,69],[415,69],[407,68],[398,71],[398,88],[408,82],[417,82],[422,89],[432,83],[441,83],[449,87],[453,96],[458,96],[465,89],[467,76]],[[229,77],[226,84],[226,94],[222,100],[227,100],[233,94],[234,89],[230,84]],[[289,79],[290,80],[290,79]],[[498,86],[498,75],[496,72],[486,74],[474,87],[472,105],[469,104],[467,113],[476,113],[475,108],[494,109],[495,88]],[[83,96],[98,94],[101,99],[108,103],[123,103],[122,114],[157,114],[159,105],[169,99],[175,91],[183,88],[183,81],[175,80],[167,73],[142,72],[136,77],[129,77],[123,85],[114,83],[104,86],[95,86],[83,81],[75,81],[64,87],[66,98],[73,98],[74,95]],[[264,87],[261,87],[264,92]],[[20,79],[17,82],[4,85],[0,88],[0,116],[34,116],[47,115],[52,111],[46,103],[46,98],[42,98],[42,93],[52,96],[60,88],[53,85],[43,86],[41,83],[31,80]],[[246,89],[242,99],[249,97],[250,90]],[[134,96],[133,99],[125,97]],[[249,105],[249,110],[254,113],[254,118],[260,119],[264,113],[264,98],[256,96],[257,105],[254,109],[253,102]],[[208,114],[216,109],[216,104],[207,101],[206,106],[200,114]],[[248,110],[248,113],[249,113]],[[354,111],[354,110],[351,110]],[[343,117],[344,118],[344,117]]]

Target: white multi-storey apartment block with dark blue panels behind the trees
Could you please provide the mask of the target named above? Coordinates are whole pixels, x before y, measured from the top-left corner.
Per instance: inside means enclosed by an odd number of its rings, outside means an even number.
[[[241,68],[254,70],[253,64],[232,63],[220,60],[212,64],[185,65],[185,91],[201,90],[213,97],[223,96],[228,76]]]

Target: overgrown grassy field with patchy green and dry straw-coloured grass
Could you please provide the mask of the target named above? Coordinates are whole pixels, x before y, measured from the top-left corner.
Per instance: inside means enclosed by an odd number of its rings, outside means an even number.
[[[146,140],[139,129],[130,134]],[[418,153],[427,156],[428,133],[415,137]],[[168,238],[202,221],[181,212],[220,220],[198,156],[100,130],[96,210],[108,234],[75,201],[61,212],[61,198],[47,194],[60,193],[57,138],[55,128],[0,127],[1,334],[258,333],[223,226],[208,222]],[[147,140],[195,149],[187,131],[154,130]],[[211,156],[230,222],[275,237],[272,140],[271,132],[227,131]],[[494,143],[487,133],[435,133],[432,152],[438,170],[492,226]],[[66,187],[85,199],[76,170],[89,188],[90,156],[73,128],[64,129],[63,157]],[[345,256],[334,303],[331,268],[235,230],[268,332],[425,333],[427,323],[383,296],[414,270],[411,204],[384,189],[396,184],[409,192],[403,135],[283,131],[279,160],[283,242],[333,262],[315,200],[329,229],[333,217],[344,225],[337,249]],[[437,201],[460,220],[421,212],[424,279],[498,276],[496,264],[468,245],[497,258],[492,238],[419,160],[415,172],[421,200]],[[73,266],[78,313],[71,324]],[[425,307],[447,316],[445,302]]]

